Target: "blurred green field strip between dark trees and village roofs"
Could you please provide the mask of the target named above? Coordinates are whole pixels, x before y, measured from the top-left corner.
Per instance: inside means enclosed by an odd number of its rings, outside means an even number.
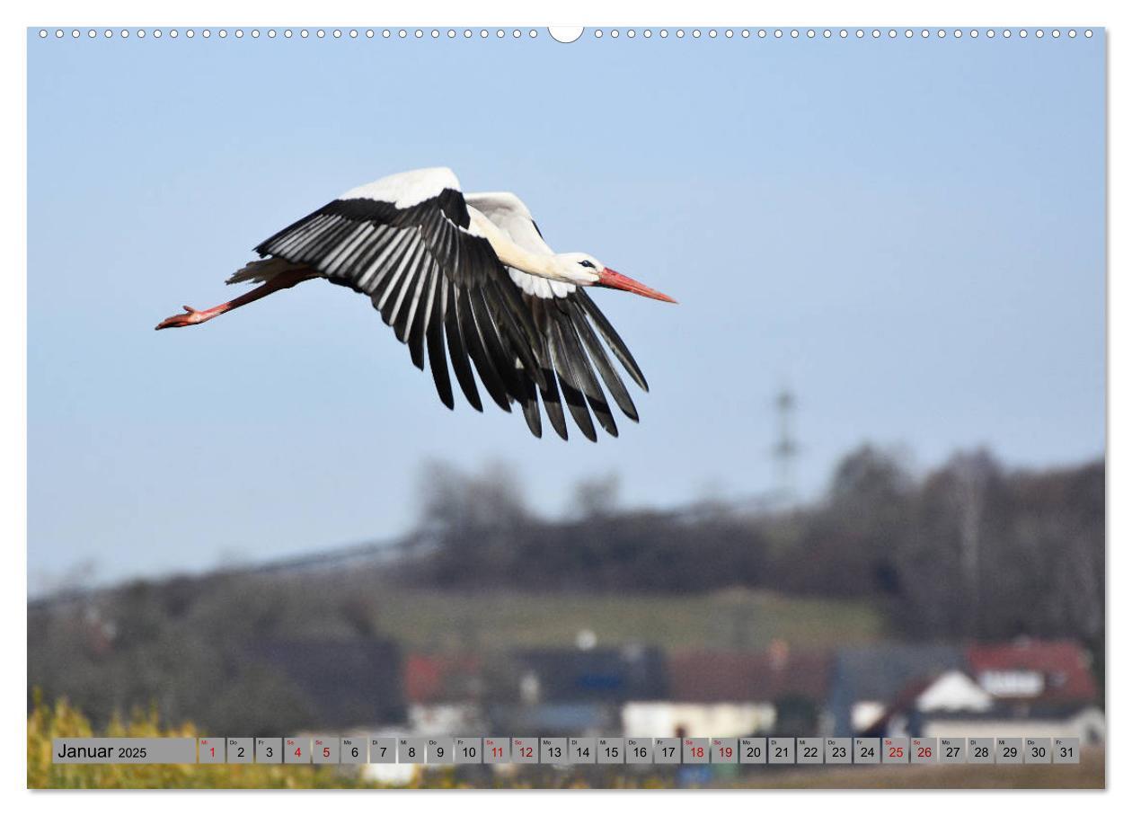
[[[643,643],[674,650],[762,650],[876,641],[883,616],[861,602],[784,598],[734,590],[700,595],[533,595],[389,589],[377,628],[405,647],[432,652],[574,645],[590,629],[598,645]]]

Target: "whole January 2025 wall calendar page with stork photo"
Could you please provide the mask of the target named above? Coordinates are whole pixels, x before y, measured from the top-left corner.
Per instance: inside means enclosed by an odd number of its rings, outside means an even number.
[[[26,31],[28,788],[1106,785],[1104,20],[305,14]]]

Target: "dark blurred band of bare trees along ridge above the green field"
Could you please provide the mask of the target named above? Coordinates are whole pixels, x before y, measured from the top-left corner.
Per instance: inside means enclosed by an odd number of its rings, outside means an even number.
[[[461,591],[688,594],[729,587],[859,601],[907,638],[1072,637],[1103,651],[1105,466],[1013,471],[960,453],[914,475],[864,446],[809,506],[623,512],[616,480],[546,521],[507,474],[439,466],[398,583]]]

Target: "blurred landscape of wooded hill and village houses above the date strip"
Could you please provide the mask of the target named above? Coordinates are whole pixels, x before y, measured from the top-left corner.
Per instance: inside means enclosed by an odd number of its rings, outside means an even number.
[[[396,541],[33,601],[29,695],[248,736],[1105,739],[1099,462],[865,446],[808,505],[584,483],[555,521],[499,469],[421,484]]]

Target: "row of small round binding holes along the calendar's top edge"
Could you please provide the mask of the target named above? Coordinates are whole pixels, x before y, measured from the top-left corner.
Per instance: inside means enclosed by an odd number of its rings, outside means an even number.
[[[268,40],[274,40],[275,37],[283,37],[285,40],[300,38],[307,40],[315,37],[318,40],[324,40],[327,37],[334,40],[358,40],[367,38],[372,40],[374,37],[381,37],[384,40],[488,40],[488,38],[535,38],[539,36],[538,31],[534,28],[55,28],[48,29],[41,28],[38,31],[40,38],[46,40],[49,37],[54,37],[57,40],[63,40],[70,37],[72,40],[78,40],[80,37],[96,38],[103,37],[111,40],[114,37],[129,38],[137,37],[138,40],[145,40],[146,37],[152,37],[154,40],[161,40],[162,37],[169,37],[175,40],[177,37],[185,36],[188,38],[194,38],[197,36],[209,40],[216,36],[221,40],[226,40],[230,36],[237,40],[242,40],[248,36],[252,40],[258,40],[260,36],[265,36]],[[927,38],[978,38],[986,37],[987,40],[994,40],[996,36],[1002,36],[1004,38],[1011,38],[1012,36],[1018,36],[1026,38],[1029,36],[1035,36],[1038,40],[1045,38],[1047,35],[1054,40],[1060,40],[1062,36],[1069,38],[1075,38],[1078,34],[1084,37],[1092,36],[1091,28],[1084,28],[1078,31],[1077,28],[594,28],[590,32],[591,36],[597,40],[609,37],[611,40],[617,40],[619,37],[626,37],[628,40],[635,40],[636,37],[643,37],[650,40],[653,36],[659,36],[661,40],[666,40],[669,36],[675,36],[677,40],[683,40],[685,37],[692,37],[693,40],[700,40],[707,37],[709,40],[724,38],[731,40],[735,37],[749,38],[752,36],[764,40],[766,37],[774,37],[781,40],[783,37],[790,37],[792,40],[848,40],[850,37],[857,40],[897,40],[904,38],[911,40],[918,37],[921,40]]]

